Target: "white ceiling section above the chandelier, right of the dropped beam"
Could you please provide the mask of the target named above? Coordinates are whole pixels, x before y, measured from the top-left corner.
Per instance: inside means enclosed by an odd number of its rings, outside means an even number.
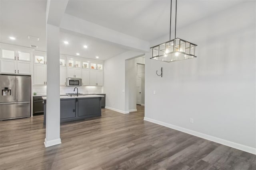
[[[175,0],[172,2],[174,11]],[[240,2],[178,0],[177,27]],[[162,37],[170,30],[170,0],[69,0],[65,13],[146,41]]]

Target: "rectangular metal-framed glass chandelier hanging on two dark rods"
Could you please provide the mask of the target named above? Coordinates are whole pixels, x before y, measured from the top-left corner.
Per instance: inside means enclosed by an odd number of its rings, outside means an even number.
[[[186,40],[176,38],[176,17],[177,16],[177,0],[176,0],[176,10],[175,10],[175,38],[171,40],[171,22],[172,22],[172,0],[171,0],[171,10],[170,10],[170,39],[165,43],[161,43],[152,49],[152,57],[150,59],[164,61],[164,62],[174,62],[184,59],[195,58],[195,48],[197,45],[190,43]]]

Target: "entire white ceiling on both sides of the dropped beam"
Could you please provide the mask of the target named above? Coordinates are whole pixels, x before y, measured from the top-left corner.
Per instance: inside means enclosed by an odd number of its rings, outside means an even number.
[[[182,27],[246,0],[178,0],[177,27]],[[174,6],[173,6],[174,7]],[[170,0],[69,0],[66,13],[151,41],[169,33]],[[39,37],[31,41],[28,35]],[[16,37],[10,40],[9,37]],[[63,41],[69,41],[64,45]],[[0,0],[0,41],[46,51],[46,0]],[[84,49],[83,45],[88,45]],[[61,32],[60,53],[100,60],[127,51],[89,36]]]

